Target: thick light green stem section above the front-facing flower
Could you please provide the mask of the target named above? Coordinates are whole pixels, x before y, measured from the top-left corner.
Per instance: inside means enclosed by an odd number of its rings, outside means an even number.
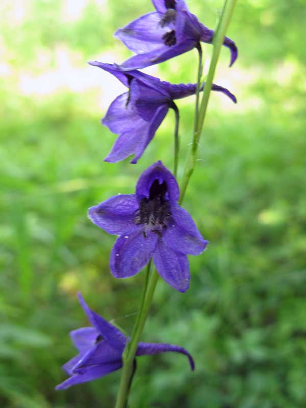
[[[207,81],[206,81],[206,84],[203,90],[203,96],[201,100],[200,109],[198,111],[197,121],[195,122],[196,126],[194,129],[191,150],[189,152],[184,175],[183,175],[182,182],[181,182],[181,188],[180,188],[181,195],[180,195],[179,203],[182,203],[184,199],[190,177],[195,167],[196,152],[198,148],[199,139],[202,133],[204,119],[205,119],[206,112],[207,112],[210,91],[213,85],[213,79],[214,79],[216,66],[217,66],[217,62],[219,59],[219,55],[220,55],[220,49],[224,41],[224,36],[227,30],[228,24],[230,23],[230,20],[232,17],[232,14],[233,14],[233,11],[236,5],[236,1],[237,0],[225,0],[222,14],[221,14],[221,17],[218,23],[218,27],[215,32],[214,38],[213,38],[213,55],[212,55],[211,63],[209,66]],[[199,81],[200,80],[198,79],[198,86],[200,86]]]

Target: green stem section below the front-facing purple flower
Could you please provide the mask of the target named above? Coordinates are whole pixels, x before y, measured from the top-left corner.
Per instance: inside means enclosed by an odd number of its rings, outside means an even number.
[[[131,339],[129,343],[127,343],[122,354],[123,368],[115,408],[125,408],[126,406],[127,396],[129,395],[131,386],[131,377],[134,373],[133,365],[135,354],[137,351],[139,338],[149,312],[149,307],[154,295],[158,278],[159,274],[156,272],[156,270],[152,270],[150,261],[147,266],[140,311],[133,328]]]

